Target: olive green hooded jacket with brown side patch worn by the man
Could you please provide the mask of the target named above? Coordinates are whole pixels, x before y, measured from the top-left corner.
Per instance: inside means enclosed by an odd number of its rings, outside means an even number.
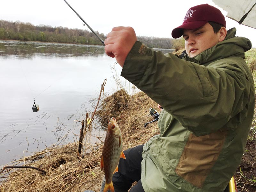
[[[251,42],[224,41],[179,59],[137,41],[121,76],[164,110],[160,135],[143,148],[146,192],[223,192],[244,153],[254,111],[254,82],[244,61]]]

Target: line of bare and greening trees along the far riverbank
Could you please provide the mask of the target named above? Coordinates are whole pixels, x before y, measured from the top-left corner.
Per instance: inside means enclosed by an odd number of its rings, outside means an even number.
[[[95,31],[101,39],[107,37],[99,31]],[[152,48],[178,49],[182,48],[181,39],[160,38],[137,36],[138,40]],[[0,20],[0,39],[21,40],[21,41],[41,41],[55,43],[72,43],[72,44],[93,44],[101,45],[100,40],[86,29],[52,27],[50,25],[35,26],[31,23],[21,21]]]

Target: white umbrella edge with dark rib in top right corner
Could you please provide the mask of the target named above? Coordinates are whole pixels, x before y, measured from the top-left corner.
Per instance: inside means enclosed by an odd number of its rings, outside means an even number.
[[[256,28],[256,0],[212,0],[217,6],[228,12],[227,17],[239,24]]]

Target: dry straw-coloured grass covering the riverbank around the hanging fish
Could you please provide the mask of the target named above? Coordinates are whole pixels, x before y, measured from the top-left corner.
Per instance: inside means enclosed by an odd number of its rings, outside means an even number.
[[[156,123],[144,123],[152,120],[148,117],[148,109],[156,107],[156,103],[142,92],[132,96],[122,89],[105,98],[97,112],[98,121],[102,124],[115,116],[124,140],[124,149],[145,143],[150,137],[158,134]],[[34,169],[6,169],[1,174],[4,178],[0,191],[13,192],[56,192],[100,190],[103,172],[100,171],[102,142],[83,145],[86,151],[84,158],[77,159],[78,143],[66,146],[52,146],[33,156],[13,162],[14,165],[39,167],[46,175]],[[11,171],[12,170],[12,171]]]

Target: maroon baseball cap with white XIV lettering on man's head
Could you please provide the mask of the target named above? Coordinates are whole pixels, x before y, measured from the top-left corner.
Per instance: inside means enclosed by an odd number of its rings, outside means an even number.
[[[181,26],[172,30],[172,37],[177,39],[183,35],[184,29],[196,29],[204,26],[208,21],[219,23],[226,27],[226,20],[219,9],[209,4],[191,7]]]

